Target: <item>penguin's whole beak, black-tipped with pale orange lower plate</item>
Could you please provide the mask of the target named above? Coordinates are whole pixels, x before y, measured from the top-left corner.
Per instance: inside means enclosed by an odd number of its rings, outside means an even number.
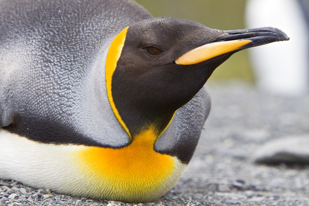
[[[183,65],[198,64],[231,51],[236,52],[250,47],[290,39],[283,31],[273,27],[229,30],[225,32],[228,35],[184,53],[175,63]]]

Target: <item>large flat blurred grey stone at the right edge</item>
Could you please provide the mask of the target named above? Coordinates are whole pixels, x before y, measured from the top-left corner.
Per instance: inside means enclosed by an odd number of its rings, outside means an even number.
[[[309,163],[309,135],[288,136],[259,146],[252,158],[256,163]]]

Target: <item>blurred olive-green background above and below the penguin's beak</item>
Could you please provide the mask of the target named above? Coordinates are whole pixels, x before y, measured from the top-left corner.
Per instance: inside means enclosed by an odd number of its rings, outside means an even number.
[[[153,16],[188,19],[220,30],[244,29],[246,0],[136,0]],[[220,65],[210,81],[237,78],[253,82],[247,51],[239,51]]]

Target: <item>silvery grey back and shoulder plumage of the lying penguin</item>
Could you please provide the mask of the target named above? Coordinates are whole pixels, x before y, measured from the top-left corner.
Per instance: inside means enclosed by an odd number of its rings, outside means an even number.
[[[0,126],[40,142],[128,144],[108,102],[105,58],[116,34],[150,17],[129,0],[1,1]],[[205,91],[177,111],[156,150],[197,142],[203,99]]]

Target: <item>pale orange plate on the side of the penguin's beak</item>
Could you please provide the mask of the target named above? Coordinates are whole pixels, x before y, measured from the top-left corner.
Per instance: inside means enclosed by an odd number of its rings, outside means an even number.
[[[240,47],[250,42],[252,41],[245,39],[204,44],[184,53],[175,61],[175,63],[184,65],[198,64],[216,56],[240,49]]]

